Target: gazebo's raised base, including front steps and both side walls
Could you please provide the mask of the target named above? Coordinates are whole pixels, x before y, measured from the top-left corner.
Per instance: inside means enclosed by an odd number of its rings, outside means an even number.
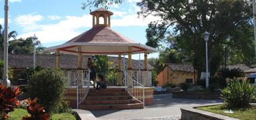
[[[145,105],[153,103],[153,88],[145,87]],[[70,101],[70,107],[76,108],[76,87],[68,87],[66,100]],[[123,86],[109,86],[107,89],[90,88],[86,99],[80,103],[79,109],[107,110],[107,109],[143,109],[143,103],[133,99]]]

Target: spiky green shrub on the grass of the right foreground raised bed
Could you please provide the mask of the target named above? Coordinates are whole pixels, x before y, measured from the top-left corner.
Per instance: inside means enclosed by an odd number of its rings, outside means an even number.
[[[229,81],[228,86],[221,91],[221,98],[229,108],[248,107],[253,97],[255,87],[247,81]]]

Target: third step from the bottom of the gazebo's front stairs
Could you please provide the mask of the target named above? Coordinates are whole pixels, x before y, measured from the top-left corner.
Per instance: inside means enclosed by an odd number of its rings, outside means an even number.
[[[130,95],[119,95],[119,96],[87,96],[86,101],[104,101],[104,100],[127,100],[132,99]]]

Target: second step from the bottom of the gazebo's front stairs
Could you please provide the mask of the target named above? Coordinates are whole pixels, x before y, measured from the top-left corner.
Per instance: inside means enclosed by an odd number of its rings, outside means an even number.
[[[131,103],[139,103],[136,99],[128,99],[128,100],[107,100],[107,101],[85,101],[82,102],[82,105],[111,105],[111,104],[131,104]]]

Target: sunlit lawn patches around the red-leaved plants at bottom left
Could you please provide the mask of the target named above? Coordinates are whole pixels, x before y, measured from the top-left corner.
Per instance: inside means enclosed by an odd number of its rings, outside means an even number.
[[[26,109],[15,109],[13,112],[10,113],[10,120],[18,120],[21,119],[22,117],[24,117],[25,115],[29,115],[29,113],[27,113]],[[60,119],[70,119],[70,120],[75,120],[76,117],[74,117],[74,115],[72,115],[71,113],[58,113],[58,114],[54,114],[52,115],[52,119],[53,120],[60,120]]]

